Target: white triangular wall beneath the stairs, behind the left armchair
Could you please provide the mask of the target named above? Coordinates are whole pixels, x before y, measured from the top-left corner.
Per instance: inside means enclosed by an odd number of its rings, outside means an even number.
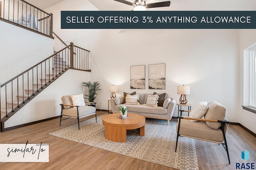
[[[85,87],[82,85],[82,82],[89,78],[90,72],[68,70],[22,107],[20,111],[10,117],[4,124],[4,127],[12,127],[60,115],[61,97],[68,94],[84,93]],[[53,106],[55,106],[55,110],[53,110]]]

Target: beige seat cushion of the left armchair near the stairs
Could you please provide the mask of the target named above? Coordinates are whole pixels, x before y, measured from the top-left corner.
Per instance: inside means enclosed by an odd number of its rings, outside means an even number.
[[[89,115],[96,112],[96,108],[93,106],[78,107],[79,117]],[[62,114],[65,116],[77,117],[77,108],[63,109]]]

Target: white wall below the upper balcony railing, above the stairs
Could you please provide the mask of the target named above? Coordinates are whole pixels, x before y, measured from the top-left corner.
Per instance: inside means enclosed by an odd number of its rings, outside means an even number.
[[[0,83],[53,54],[53,39],[0,21]]]

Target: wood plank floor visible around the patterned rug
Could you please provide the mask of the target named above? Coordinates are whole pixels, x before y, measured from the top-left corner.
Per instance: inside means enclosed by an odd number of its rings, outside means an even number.
[[[107,112],[98,111],[97,115],[105,113]],[[81,121],[86,119],[88,117]],[[49,162],[0,162],[0,170],[173,170],[173,168],[166,166],[48,135],[50,132],[76,123],[76,119],[67,119],[62,121],[61,126],[59,126],[59,119],[53,119],[0,133],[1,144],[26,143],[26,141],[28,143],[50,144]],[[222,145],[195,140],[200,170],[236,169],[236,162],[245,162],[241,159],[241,152],[245,149],[250,152],[250,159],[246,163],[256,162],[256,138],[253,135],[240,126],[230,125],[226,137],[230,164],[228,164],[226,151]]]

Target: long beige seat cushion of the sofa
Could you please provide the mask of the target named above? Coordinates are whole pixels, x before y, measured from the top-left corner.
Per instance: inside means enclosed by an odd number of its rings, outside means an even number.
[[[124,106],[123,104],[116,105],[115,109],[118,110],[118,107]],[[128,113],[139,112],[139,113],[154,113],[154,114],[167,114],[167,109],[164,107],[151,107],[144,105],[126,105],[128,108]]]

